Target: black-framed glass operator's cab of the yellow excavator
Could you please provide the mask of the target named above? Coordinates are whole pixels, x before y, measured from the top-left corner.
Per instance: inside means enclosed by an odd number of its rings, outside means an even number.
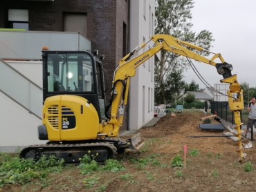
[[[104,68],[87,51],[43,50],[43,99],[55,95],[77,95],[95,107],[99,122],[105,115]]]

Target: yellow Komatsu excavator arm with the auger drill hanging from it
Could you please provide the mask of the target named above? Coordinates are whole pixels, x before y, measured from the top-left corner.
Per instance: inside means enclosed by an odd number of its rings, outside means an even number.
[[[154,41],[154,46],[149,48],[149,50],[143,52],[143,54],[130,59],[130,57],[143,47],[146,46],[149,41]],[[223,79],[221,82],[230,84],[230,90],[228,91],[228,104],[230,111],[234,111],[235,113],[235,127],[238,131],[239,140],[241,140],[241,133],[240,126],[241,126],[241,119],[240,119],[240,111],[244,109],[244,100],[243,100],[243,90],[241,90],[240,85],[237,81],[237,75],[232,75],[232,65],[226,63],[221,56],[221,54],[217,53],[214,54],[212,59],[207,59],[201,55],[196,54],[195,52],[189,50],[185,46],[190,48],[194,48],[200,51],[207,51],[199,46],[195,46],[185,41],[181,41],[172,37],[170,35],[154,35],[149,39],[147,42],[141,44],[140,46],[136,47],[134,50],[129,52],[128,55],[120,59],[120,63],[118,68],[116,68],[114,75],[113,75],[113,86],[111,90],[111,99],[110,105],[111,108],[111,119],[109,124],[114,125],[113,136],[118,135],[119,128],[122,126],[122,119],[125,112],[125,106],[127,105],[127,97],[128,97],[128,90],[129,90],[129,78],[134,77],[138,66],[143,64],[147,59],[156,55],[157,52],[160,50],[167,50],[170,52],[174,52],[178,55],[183,55],[185,57],[189,57],[191,59],[195,59],[197,61],[201,61],[205,64],[209,64],[211,66],[215,66],[217,68],[217,72],[220,75],[223,75]],[[221,63],[214,62],[215,59],[219,58]],[[237,93],[237,98],[233,97],[233,94]],[[239,153],[240,157],[244,158],[244,153],[242,153],[242,146],[241,142],[237,143],[239,145]]]

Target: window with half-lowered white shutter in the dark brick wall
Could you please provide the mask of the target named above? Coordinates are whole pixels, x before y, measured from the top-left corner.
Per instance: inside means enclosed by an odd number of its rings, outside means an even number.
[[[8,10],[9,28],[28,30],[28,10]]]

